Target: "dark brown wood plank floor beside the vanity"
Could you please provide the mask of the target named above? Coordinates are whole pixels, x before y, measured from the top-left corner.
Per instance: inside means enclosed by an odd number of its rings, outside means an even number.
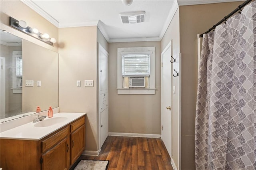
[[[82,155],[80,159],[109,160],[108,170],[173,170],[159,138],[108,136],[99,156]]]

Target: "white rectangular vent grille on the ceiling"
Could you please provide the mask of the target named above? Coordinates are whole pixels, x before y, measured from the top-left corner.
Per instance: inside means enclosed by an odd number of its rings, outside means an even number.
[[[145,21],[145,11],[120,13],[123,24],[135,24]]]

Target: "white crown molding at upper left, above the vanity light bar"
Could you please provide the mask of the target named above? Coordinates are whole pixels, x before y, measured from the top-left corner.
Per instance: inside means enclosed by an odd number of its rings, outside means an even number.
[[[35,12],[37,12],[40,16],[42,16],[43,18],[48,20],[54,26],[59,28],[59,22],[57,20],[55,20],[52,16],[50,16],[47,12],[42,10],[42,8],[37,6],[34,2],[32,2],[31,0],[20,0],[20,1],[23,2],[24,4],[26,4],[26,6],[28,6],[29,8],[31,8]]]

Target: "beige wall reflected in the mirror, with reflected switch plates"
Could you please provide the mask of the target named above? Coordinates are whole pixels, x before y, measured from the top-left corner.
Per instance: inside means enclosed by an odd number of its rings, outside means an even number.
[[[22,40],[22,59],[22,112],[34,112],[37,106],[41,111],[58,107],[58,53]],[[34,87],[25,87],[26,80],[33,80]]]

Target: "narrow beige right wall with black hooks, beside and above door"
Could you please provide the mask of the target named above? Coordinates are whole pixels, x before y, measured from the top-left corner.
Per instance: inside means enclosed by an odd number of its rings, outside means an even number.
[[[173,69],[180,72],[180,23],[179,23],[179,9],[176,11],[172,21],[164,34],[164,37],[161,41],[161,51],[164,50],[166,45],[172,41],[172,57],[176,59],[176,62],[172,63]],[[171,58],[170,58],[171,59]],[[174,73],[172,73],[174,74]],[[178,160],[179,160],[179,99],[180,99],[180,76],[171,77],[172,78],[172,86],[175,86],[176,93],[172,93],[172,158],[178,168]],[[171,87],[172,88],[172,87]]]

